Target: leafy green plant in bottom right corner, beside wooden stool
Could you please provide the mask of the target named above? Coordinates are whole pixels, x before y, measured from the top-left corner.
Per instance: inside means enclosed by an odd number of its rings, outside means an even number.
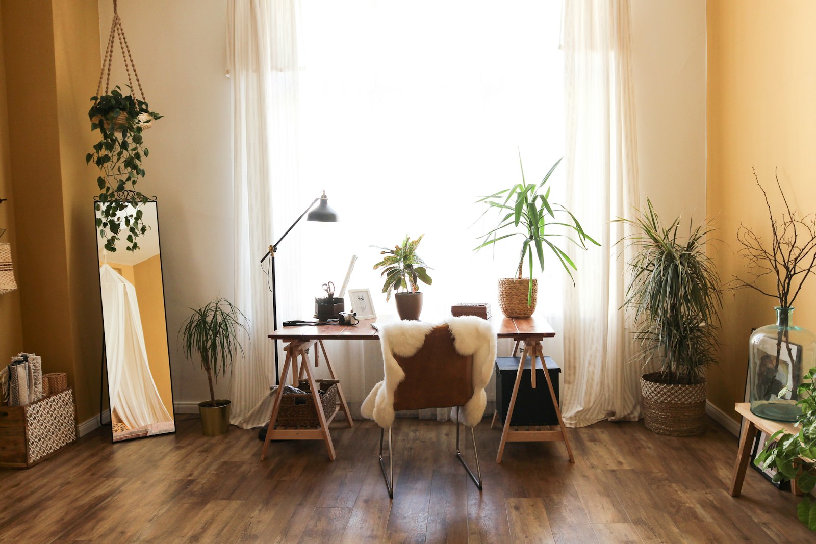
[[[779,391],[779,397],[787,392],[785,387]],[[802,377],[796,392],[799,396],[796,405],[802,409],[796,422],[799,432],[796,435],[783,429],[774,432],[754,464],[763,470],[775,467],[774,482],[796,481],[805,493],[805,498],[796,506],[796,513],[808,529],[816,531],[816,501],[807,496],[816,487],[816,368]]]

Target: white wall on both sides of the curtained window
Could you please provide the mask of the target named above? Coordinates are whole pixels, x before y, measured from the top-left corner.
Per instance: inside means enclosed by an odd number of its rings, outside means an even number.
[[[233,295],[226,5],[122,0],[118,9],[149,104],[166,116],[145,133],[142,191],[159,201],[175,402],[192,403],[206,398],[206,378],[176,334],[188,307]],[[103,45],[112,11],[100,0]],[[705,0],[632,0],[641,185],[664,219],[705,214],[705,18]],[[115,81],[126,82],[117,60]]]

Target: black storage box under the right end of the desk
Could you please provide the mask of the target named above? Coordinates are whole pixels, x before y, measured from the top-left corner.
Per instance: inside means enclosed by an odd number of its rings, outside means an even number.
[[[512,387],[516,383],[516,372],[518,370],[518,357],[498,357],[495,364],[496,373],[496,409],[499,410],[499,418],[502,424],[507,418],[512,396]],[[561,403],[558,393],[558,374],[561,368],[552,360],[552,357],[544,356],[547,364],[547,371],[550,373],[552,389],[556,392],[556,400]],[[547,378],[544,378],[544,371],[539,361],[535,368],[535,389],[530,383],[530,357],[525,361],[524,370],[521,371],[521,383],[518,385],[518,395],[516,406],[512,410],[513,427],[526,427],[530,425],[558,425],[556,409],[552,405],[550,398],[550,388],[547,387]],[[559,404],[560,405],[560,404]]]

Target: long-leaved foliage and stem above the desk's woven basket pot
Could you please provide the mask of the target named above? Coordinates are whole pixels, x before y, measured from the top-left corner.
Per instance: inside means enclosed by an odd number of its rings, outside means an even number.
[[[562,157],[563,158],[563,157]],[[534,260],[537,260],[544,271],[544,254],[554,254],[564,270],[572,276],[577,270],[575,263],[566,252],[557,245],[557,241],[565,240],[579,246],[582,250],[588,248],[587,242],[601,245],[583,231],[581,223],[561,204],[550,201],[550,189],[547,182],[552,172],[561,163],[558,159],[548,171],[544,179],[538,184],[528,184],[524,177],[524,166],[521,164],[521,155],[518,157],[521,167],[521,184],[514,184],[511,188],[494,192],[487,197],[481,197],[477,202],[484,202],[488,207],[479,216],[481,219],[490,210],[499,212],[499,226],[482,235],[480,245],[473,248],[481,250],[493,245],[499,240],[521,236],[521,254],[519,255],[516,273],[521,278],[525,259],[529,265],[530,278],[534,273]],[[477,219],[478,220],[478,219]],[[514,238],[517,239],[517,238]],[[527,294],[528,305],[533,299],[533,282]]]

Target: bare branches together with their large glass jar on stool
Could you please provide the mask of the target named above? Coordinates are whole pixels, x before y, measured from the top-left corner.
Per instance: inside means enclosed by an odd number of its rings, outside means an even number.
[[[816,268],[816,216],[792,210],[776,177],[785,208],[774,217],[756,171],[754,179],[765,198],[770,241],[740,224],[737,241],[747,276],[737,277],[734,288],[755,290],[776,300],[777,306],[776,323],[756,329],[748,340],[751,411],[761,418],[795,422],[801,414],[797,386],[805,382],[807,369],[816,366],[816,334],[793,324],[793,302]],[[776,289],[758,282],[762,276],[772,276]]]

